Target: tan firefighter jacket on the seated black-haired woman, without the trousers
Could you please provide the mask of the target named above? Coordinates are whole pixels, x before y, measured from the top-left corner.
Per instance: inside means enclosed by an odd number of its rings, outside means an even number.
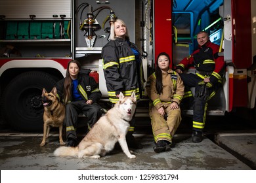
[[[181,103],[184,95],[184,84],[181,77],[173,70],[169,69],[167,73],[162,73],[163,92],[158,94],[156,90],[156,75],[153,73],[148,77],[146,92],[154,107],[157,109],[163,107],[164,103]]]

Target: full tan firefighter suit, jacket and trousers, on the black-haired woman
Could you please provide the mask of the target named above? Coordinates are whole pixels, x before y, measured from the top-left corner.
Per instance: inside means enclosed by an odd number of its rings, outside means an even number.
[[[181,108],[171,110],[171,103],[181,103],[184,95],[184,85],[180,76],[169,69],[163,76],[163,92],[159,95],[156,90],[156,75],[153,73],[148,78],[146,91],[150,98],[150,118],[155,142],[165,140],[172,142],[175,131],[181,124]],[[158,113],[163,107],[167,120]]]

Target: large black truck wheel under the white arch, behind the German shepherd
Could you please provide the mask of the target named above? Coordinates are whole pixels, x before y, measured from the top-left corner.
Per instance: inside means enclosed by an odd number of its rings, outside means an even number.
[[[16,76],[3,93],[1,105],[5,122],[18,131],[43,130],[43,88],[51,92],[56,80],[53,76],[32,71]]]

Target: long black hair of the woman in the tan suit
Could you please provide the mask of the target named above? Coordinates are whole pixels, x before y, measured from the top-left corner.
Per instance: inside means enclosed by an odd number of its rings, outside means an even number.
[[[158,94],[161,94],[163,92],[163,76],[162,71],[158,65],[158,59],[160,58],[160,56],[166,56],[170,62],[170,57],[167,53],[161,52],[160,54],[158,54],[158,58],[156,59],[156,91],[158,92]]]

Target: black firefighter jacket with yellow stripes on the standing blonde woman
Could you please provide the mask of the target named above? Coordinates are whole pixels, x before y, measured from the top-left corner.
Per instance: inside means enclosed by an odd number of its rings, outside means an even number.
[[[106,88],[112,103],[117,103],[119,99],[116,95],[120,92],[131,95],[135,91],[137,100],[144,95],[142,58],[140,54],[136,58],[131,48],[139,52],[135,44],[120,38],[108,42],[102,48]]]

